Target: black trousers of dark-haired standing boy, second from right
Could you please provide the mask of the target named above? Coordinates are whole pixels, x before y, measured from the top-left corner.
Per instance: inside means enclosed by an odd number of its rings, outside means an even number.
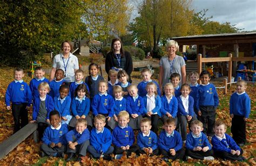
[[[216,119],[216,112],[214,106],[200,106],[201,116],[198,116],[198,120],[203,123],[204,133],[207,136],[213,136],[213,127]]]

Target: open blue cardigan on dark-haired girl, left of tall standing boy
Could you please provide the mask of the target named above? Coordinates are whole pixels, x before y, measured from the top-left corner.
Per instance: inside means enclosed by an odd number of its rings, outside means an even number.
[[[185,111],[184,105],[181,100],[181,95],[177,98],[178,100],[178,112],[177,114],[181,116],[194,116],[194,99],[188,95],[188,113]]]

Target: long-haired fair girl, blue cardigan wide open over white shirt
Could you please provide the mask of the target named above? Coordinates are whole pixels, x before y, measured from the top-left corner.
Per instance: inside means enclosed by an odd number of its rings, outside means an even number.
[[[158,120],[161,117],[161,98],[157,93],[157,85],[153,82],[147,83],[146,91],[147,94],[143,97],[145,117],[151,120],[152,131],[158,133]]]

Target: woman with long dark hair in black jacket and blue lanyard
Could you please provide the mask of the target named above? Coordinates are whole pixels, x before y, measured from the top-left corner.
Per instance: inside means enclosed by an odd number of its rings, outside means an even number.
[[[105,70],[109,73],[110,69],[125,70],[131,76],[132,73],[132,57],[129,52],[124,51],[123,44],[120,39],[113,39],[111,42],[111,52],[107,53],[105,60]],[[131,77],[130,77],[130,83]]]

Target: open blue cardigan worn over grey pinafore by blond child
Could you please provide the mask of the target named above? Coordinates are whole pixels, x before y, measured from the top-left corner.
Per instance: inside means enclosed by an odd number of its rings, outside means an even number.
[[[39,96],[33,100],[33,113],[32,113],[33,120],[36,120],[36,118],[37,118],[40,102],[41,102],[41,100],[40,100]],[[54,105],[53,105],[53,99],[49,95],[46,95],[46,98],[45,98],[45,109],[48,112],[45,119],[50,119],[49,114],[51,111],[54,110]]]

